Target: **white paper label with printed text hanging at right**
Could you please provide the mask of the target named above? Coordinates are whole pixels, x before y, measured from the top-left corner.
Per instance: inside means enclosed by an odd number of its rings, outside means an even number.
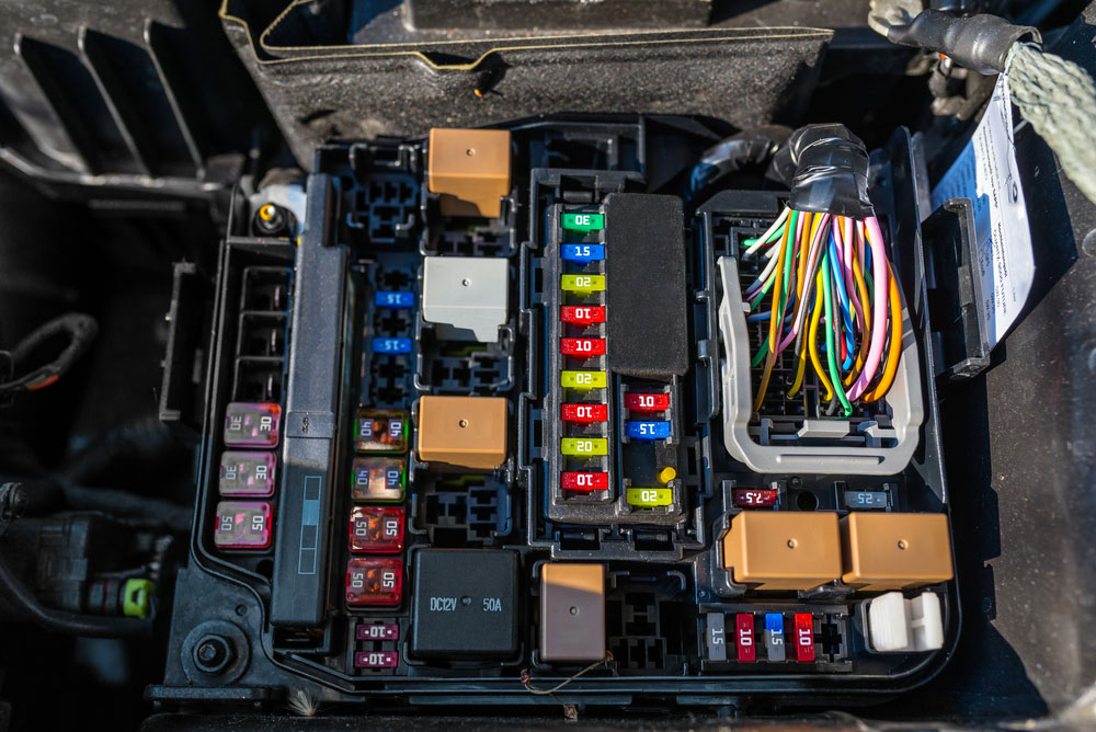
[[[1031,231],[1016,168],[1013,107],[1004,75],[973,137],[933,190],[933,209],[948,198],[974,202],[982,325],[994,346],[1016,321],[1035,278]]]

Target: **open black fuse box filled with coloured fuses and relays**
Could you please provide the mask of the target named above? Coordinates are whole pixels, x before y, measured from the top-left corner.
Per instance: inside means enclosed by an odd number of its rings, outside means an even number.
[[[651,151],[710,140],[667,119],[329,144],[296,240],[251,237],[241,194],[176,593],[220,599],[180,604],[172,648],[216,616],[250,664],[169,657],[150,698],[794,704],[939,671],[960,619],[909,136],[870,160],[900,379],[836,419],[810,377],[786,399],[784,362],[744,405],[744,251],[788,193],[692,195]]]

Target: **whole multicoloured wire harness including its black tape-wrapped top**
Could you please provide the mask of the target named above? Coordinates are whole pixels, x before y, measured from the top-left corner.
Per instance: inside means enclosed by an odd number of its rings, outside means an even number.
[[[864,144],[841,125],[811,125],[789,140],[796,164],[791,198],[743,259],[768,260],[743,290],[747,321],[767,322],[754,353],[764,361],[753,411],[773,365],[791,348],[795,397],[807,365],[818,375],[827,415],[850,416],[856,402],[880,400],[902,357],[902,305],[882,229],[867,195]],[[766,307],[767,306],[767,307]],[[889,333],[889,335],[888,335]]]

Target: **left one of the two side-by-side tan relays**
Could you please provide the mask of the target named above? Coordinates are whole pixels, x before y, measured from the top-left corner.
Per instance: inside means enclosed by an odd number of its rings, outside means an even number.
[[[836,580],[837,514],[743,511],[723,536],[723,567],[758,590],[810,590]]]

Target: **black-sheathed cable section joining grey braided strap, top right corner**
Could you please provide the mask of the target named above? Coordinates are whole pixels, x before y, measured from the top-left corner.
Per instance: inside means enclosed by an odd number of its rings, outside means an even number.
[[[1019,41],[1041,42],[1037,28],[1013,25],[986,13],[956,18],[940,10],[926,10],[909,25],[895,25],[887,37],[902,46],[921,46],[947,55],[959,66],[979,73],[1001,73],[1008,52]]]

